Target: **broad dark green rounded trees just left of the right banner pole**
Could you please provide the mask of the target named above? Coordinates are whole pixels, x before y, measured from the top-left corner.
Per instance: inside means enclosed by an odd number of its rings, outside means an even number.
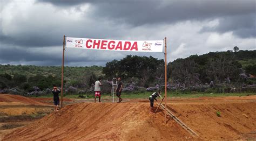
[[[159,78],[164,75],[164,60],[158,60],[151,56],[127,55],[119,61],[107,62],[103,73],[107,79],[122,77],[123,80],[129,80],[136,77],[140,79],[139,86],[149,87],[150,84],[154,85],[156,82],[156,76]]]

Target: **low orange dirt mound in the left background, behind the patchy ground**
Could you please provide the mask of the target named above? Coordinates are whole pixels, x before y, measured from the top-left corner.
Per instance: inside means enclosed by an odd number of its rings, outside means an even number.
[[[20,104],[32,104],[32,105],[45,105],[41,101],[36,101],[32,98],[24,97],[21,95],[9,95],[0,94],[0,105],[20,105]]]

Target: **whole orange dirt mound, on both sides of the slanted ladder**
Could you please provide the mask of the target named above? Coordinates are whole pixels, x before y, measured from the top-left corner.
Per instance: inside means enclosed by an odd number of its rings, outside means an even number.
[[[164,112],[149,113],[148,100],[66,105],[3,140],[236,140],[256,139],[256,96],[172,98],[169,109],[191,129],[193,138]],[[216,112],[220,111],[220,117]]]

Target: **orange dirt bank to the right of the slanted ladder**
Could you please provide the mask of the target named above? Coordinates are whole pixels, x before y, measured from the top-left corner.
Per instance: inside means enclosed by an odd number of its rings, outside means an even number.
[[[168,104],[202,139],[256,139],[256,101],[201,101]],[[220,116],[217,116],[217,111]]]

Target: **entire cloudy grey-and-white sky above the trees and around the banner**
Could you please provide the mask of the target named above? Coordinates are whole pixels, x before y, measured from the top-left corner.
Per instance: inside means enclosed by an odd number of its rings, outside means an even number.
[[[60,66],[63,35],[162,40],[167,61],[191,54],[256,50],[255,0],[0,0],[0,64]],[[104,66],[126,55],[163,53],[68,48],[65,65]]]

